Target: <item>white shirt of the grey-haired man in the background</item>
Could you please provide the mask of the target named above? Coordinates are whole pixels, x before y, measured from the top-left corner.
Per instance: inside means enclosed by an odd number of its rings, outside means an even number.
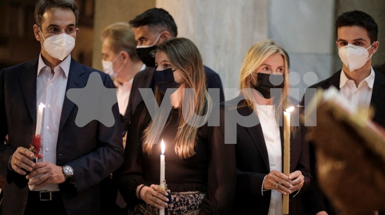
[[[146,69],[146,64],[143,64],[141,71],[145,69]],[[130,98],[131,88],[133,87],[133,80],[134,78],[124,83],[119,83],[116,80],[114,81],[114,85],[116,87],[117,105],[119,106],[119,113],[122,116],[124,116],[125,110],[129,105],[129,98]]]

